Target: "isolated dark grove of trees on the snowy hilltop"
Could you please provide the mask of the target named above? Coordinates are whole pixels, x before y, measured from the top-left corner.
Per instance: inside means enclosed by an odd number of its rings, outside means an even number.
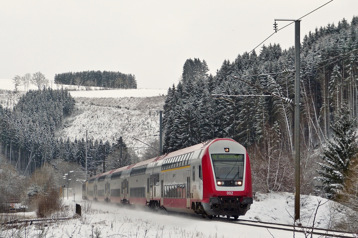
[[[78,86],[105,88],[137,88],[135,75],[114,71],[81,71],[55,74],[54,82]]]

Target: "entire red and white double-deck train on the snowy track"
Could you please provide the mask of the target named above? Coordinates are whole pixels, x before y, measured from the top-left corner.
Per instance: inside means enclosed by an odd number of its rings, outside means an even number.
[[[246,149],[219,138],[94,176],[83,199],[234,217],[252,204]]]

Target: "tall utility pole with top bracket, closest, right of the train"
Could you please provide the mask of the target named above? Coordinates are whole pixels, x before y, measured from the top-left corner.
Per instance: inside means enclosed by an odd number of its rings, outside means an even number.
[[[296,19],[275,19],[276,21],[295,22],[295,222],[300,222],[300,22]]]

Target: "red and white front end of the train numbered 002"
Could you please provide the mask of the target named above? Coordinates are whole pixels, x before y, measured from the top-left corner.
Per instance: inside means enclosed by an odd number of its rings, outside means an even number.
[[[217,139],[204,148],[201,163],[203,199],[201,206],[195,204],[196,211],[204,210],[209,216],[245,215],[253,202],[246,149],[236,141]]]

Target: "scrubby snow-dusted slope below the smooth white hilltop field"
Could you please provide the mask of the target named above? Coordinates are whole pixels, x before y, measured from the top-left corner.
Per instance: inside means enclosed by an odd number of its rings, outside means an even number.
[[[71,92],[72,93],[72,92]],[[150,143],[159,135],[159,114],[150,110],[163,109],[165,96],[127,97],[127,98],[89,98],[76,97],[76,108],[71,117],[66,117],[59,137],[114,142],[123,136],[130,147],[143,147],[143,143],[132,137],[142,137],[141,141]],[[143,137],[149,135],[157,135]],[[142,150],[136,150],[141,152]]]

